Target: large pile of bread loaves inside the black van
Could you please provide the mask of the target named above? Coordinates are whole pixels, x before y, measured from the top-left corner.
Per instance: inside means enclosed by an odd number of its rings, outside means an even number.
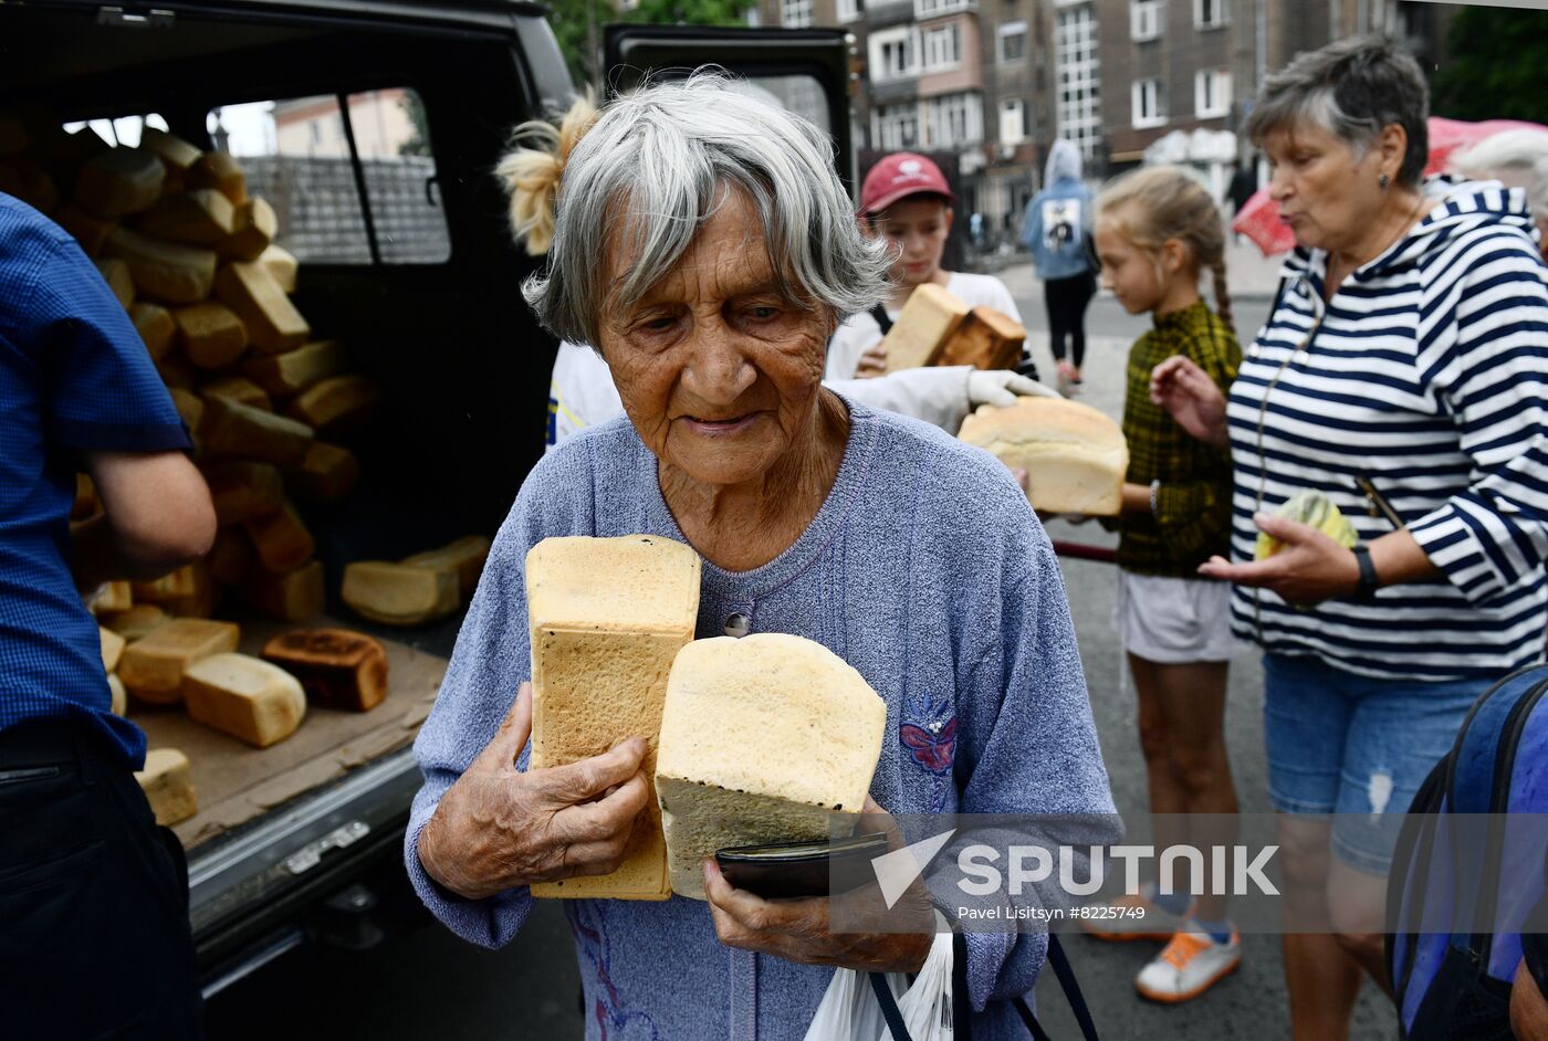
[[[381,399],[336,340],[314,340],[289,294],[296,258],[274,243],[274,209],[249,196],[229,155],[146,127],[138,147],[93,130],[0,113],[0,190],[50,215],[91,257],[128,312],[195,442],[220,534],[209,555],[156,582],[115,582],[91,599],[113,710],[181,704],[254,747],[300,725],[308,701],[368,710],[387,695],[382,645],[345,630],[296,630],[262,657],[237,653],[240,628],[214,620],[223,594],[299,623],[324,609],[324,569],[296,503],[354,486],[337,442]],[[101,510],[77,478],[74,520]],[[469,537],[399,563],[351,565],[345,600],[410,625],[472,594],[489,541]],[[359,568],[359,574],[354,572]],[[141,783],[158,820],[195,812],[187,758],[153,749]]]

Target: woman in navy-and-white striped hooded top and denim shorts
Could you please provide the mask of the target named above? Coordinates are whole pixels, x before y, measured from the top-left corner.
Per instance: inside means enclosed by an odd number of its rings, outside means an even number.
[[[1263,647],[1288,927],[1324,930],[1285,937],[1296,1038],[1345,1035],[1359,967],[1384,981],[1401,814],[1548,620],[1548,271],[1520,192],[1421,178],[1426,116],[1384,40],[1268,77],[1248,131],[1296,234],[1283,288],[1229,399],[1184,359],[1152,373],[1232,450],[1232,561],[1200,571],[1237,585],[1235,630]],[[1305,492],[1353,549],[1274,515]],[[1254,560],[1260,532],[1283,548]]]

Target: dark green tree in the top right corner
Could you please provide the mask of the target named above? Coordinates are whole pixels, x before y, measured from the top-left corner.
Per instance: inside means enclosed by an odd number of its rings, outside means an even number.
[[[1435,70],[1437,116],[1548,124],[1548,11],[1463,8]]]

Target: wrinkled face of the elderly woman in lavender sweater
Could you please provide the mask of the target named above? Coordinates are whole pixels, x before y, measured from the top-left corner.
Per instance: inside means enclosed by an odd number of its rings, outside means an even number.
[[[816,436],[833,323],[782,294],[763,243],[752,203],[728,190],[638,305],[604,305],[602,357],[628,419],[656,458],[704,484],[757,481]],[[610,280],[627,271],[618,252]]]

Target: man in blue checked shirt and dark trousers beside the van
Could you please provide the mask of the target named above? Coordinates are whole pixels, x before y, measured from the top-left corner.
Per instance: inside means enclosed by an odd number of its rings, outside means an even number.
[[[209,549],[209,490],[74,240],[0,193],[0,1033],[203,1035],[187,871],[135,783],[82,589]],[[70,529],[74,475],[104,515]]]

